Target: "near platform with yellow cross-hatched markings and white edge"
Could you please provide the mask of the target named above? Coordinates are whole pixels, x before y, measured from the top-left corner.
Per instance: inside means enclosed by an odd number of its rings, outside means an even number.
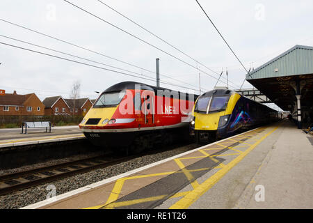
[[[284,120],[24,208],[313,208],[312,161]]]

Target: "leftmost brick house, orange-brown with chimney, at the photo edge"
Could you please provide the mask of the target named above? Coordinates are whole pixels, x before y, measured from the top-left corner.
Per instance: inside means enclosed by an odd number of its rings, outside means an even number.
[[[0,95],[0,115],[2,116],[43,116],[44,114],[45,105],[35,93],[18,95],[14,91]]]

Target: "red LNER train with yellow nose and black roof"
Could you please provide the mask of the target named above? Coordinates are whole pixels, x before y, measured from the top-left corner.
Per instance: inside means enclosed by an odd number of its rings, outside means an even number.
[[[197,97],[147,84],[122,82],[99,96],[79,128],[97,146],[135,143],[144,149],[158,141],[171,141],[172,132],[186,132],[188,136],[188,123]]]

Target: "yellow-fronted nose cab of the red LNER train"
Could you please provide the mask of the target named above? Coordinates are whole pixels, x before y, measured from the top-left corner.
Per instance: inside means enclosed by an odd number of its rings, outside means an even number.
[[[154,99],[135,90],[104,91],[79,124],[95,146],[129,146],[136,130],[153,127]]]

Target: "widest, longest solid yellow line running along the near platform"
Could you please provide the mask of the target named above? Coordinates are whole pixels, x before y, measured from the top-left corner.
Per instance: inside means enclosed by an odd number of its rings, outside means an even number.
[[[266,137],[275,132],[275,130],[277,130],[278,127],[279,126],[273,128],[273,130],[266,133],[261,139],[256,141],[255,144],[252,144],[246,151],[244,151],[238,157],[234,158],[234,160],[226,164],[225,167],[216,172],[216,174],[205,180],[204,183],[202,183],[199,187],[195,188],[194,190],[186,194],[186,196],[184,196],[182,199],[179,199],[179,201],[170,206],[170,209],[183,209],[191,206],[191,204],[197,201],[202,196],[202,194],[207,192],[207,190],[209,190],[221,178],[223,178],[223,176],[225,176],[225,174],[227,174],[227,172],[230,171],[230,169],[236,166],[236,164],[238,164],[243,159],[243,157],[246,157],[246,155],[248,155],[248,153],[250,153],[258,144],[260,144],[264,139],[266,139]]]

